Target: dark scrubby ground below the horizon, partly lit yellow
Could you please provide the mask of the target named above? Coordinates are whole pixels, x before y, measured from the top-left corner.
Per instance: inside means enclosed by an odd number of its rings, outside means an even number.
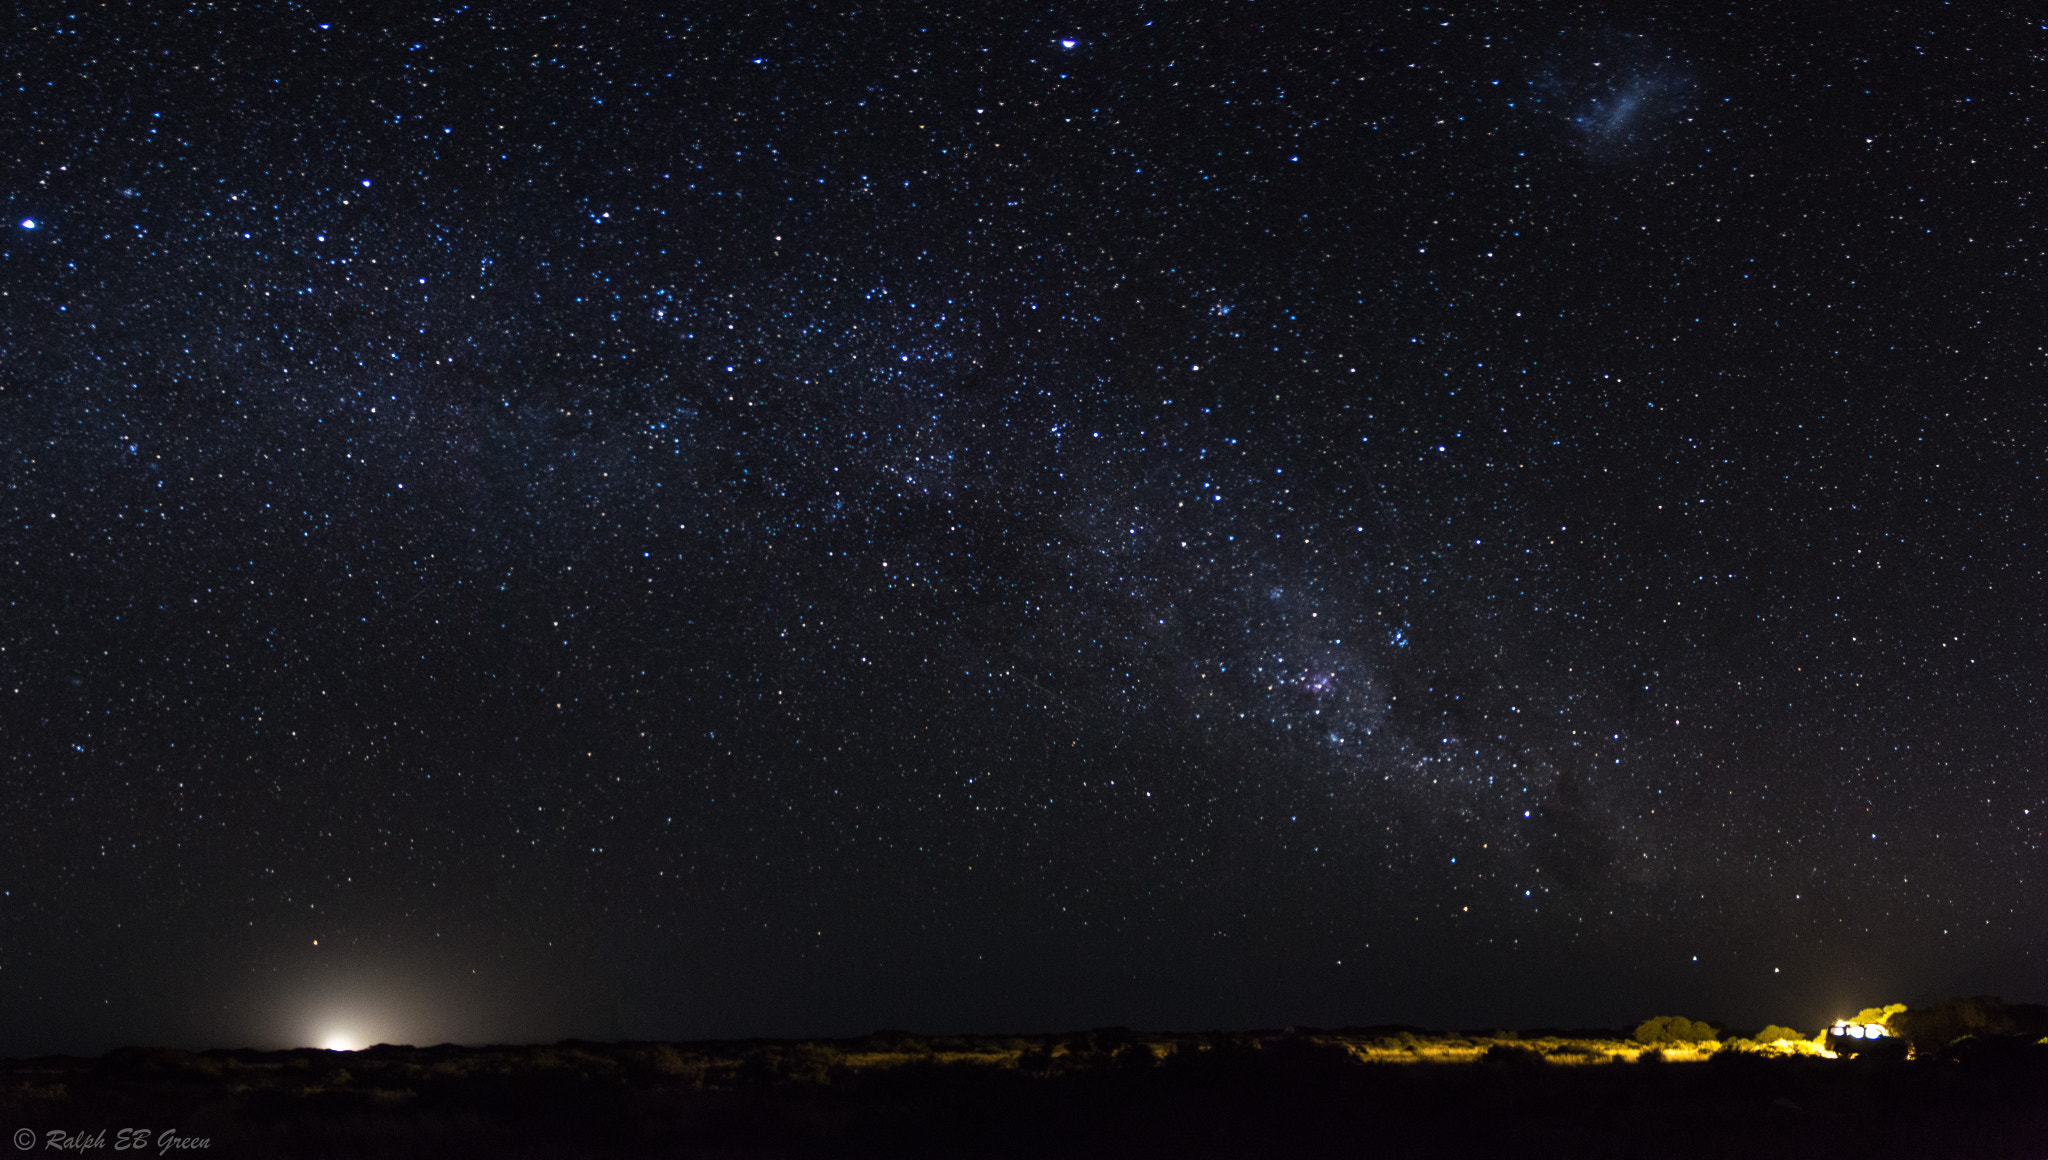
[[[0,1062],[0,1131],[29,1144],[16,1154],[88,1156],[2042,1160],[2048,1047],[1569,1064],[1511,1045],[1477,1062],[1368,1062],[1309,1033],[131,1047]]]

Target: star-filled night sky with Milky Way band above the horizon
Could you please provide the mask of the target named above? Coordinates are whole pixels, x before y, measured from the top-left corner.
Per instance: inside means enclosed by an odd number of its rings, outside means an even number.
[[[0,1051],[2048,994],[2025,8],[16,8]]]

